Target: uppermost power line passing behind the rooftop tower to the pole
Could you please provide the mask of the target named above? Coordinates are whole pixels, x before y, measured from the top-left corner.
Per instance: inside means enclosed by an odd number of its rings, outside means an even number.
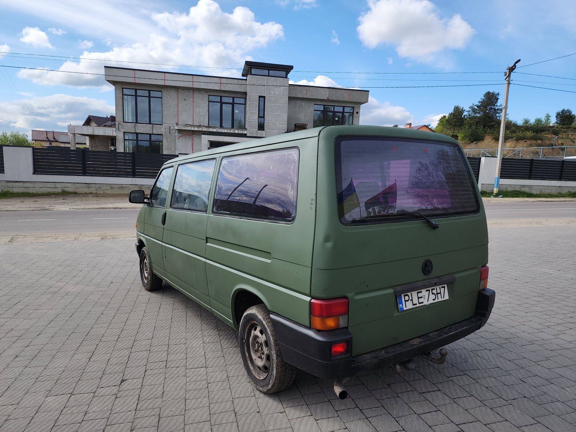
[[[202,68],[202,69],[216,69],[216,70],[234,70],[240,71],[242,68],[238,67],[214,67],[214,66],[194,66],[194,65],[175,65],[170,63],[153,63],[153,62],[131,62],[128,60],[108,60],[108,59],[95,59],[95,58],[88,58],[88,57],[74,57],[74,56],[62,56],[62,55],[50,55],[50,54],[32,54],[29,52],[9,52],[9,51],[0,51],[0,54],[6,54],[9,57],[18,57],[24,56],[19,58],[35,58],[41,60],[96,60],[97,62],[111,62],[111,63],[128,63],[132,65],[153,65],[153,66],[169,66],[169,67],[194,67],[194,68]],[[90,62],[87,62],[90,63]],[[103,63],[108,64],[108,63]],[[344,72],[344,71],[314,71],[314,70],[293,70],[296,73],[314,73],[314,74],[391,74],[391,75],[404,75],[404,74],[412,74],[412,75],[422,75],[422,74],[499,74],[502,73],[501,71],[468,71],[468,72]]]

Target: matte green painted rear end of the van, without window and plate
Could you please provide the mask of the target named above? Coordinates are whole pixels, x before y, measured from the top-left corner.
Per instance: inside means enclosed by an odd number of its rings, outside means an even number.
[[[377,126],[336,126],[320,133],[318,178],[324,181],[317,185],[311,296],[348,297],[348,330],[357,355],[471,317],[480,267],[488,262],[488,231],[480,199],[478,214],[434,218],[440,225],[437,230],[421,219],[342,225],[336,202],[335,139],[349,135],[457,142],[434,132]],[[429,276],[422,274],[426,258],[434,263]],[[399,312],[393,287],[447,274],[456,274],[448,286],[449,300]]]

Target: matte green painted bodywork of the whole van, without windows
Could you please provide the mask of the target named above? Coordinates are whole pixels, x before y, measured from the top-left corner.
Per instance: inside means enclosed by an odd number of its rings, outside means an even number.
[[[144,228],[137,235],[148,245],[154,272],[233,327],[240,320],[234,316],[234,299],[243,290],[303,325],[310,324],[311,297],[346,296],[354,355],[472,316],[480,267],[488,261],[482,201],[478,214],[434,218],[438,230],[419,219],[344,226],[336,204],[334,150],[337,137],[350,135],[456,143],[445,135],[405,128],[332,126],[176,158],[166,166],[217,160],[208,211],[172,210],[169,200],[166,209],[143,206],[138,222]],[[293,223],[211,214],[223,157],[289,148],[300,153]],[[169,195],[174,179],[175,173]],[[426,258],[434,262],[430,276],[421,272]],[[398,312],[394,286],[446,274],[456,275],[448,301]]]

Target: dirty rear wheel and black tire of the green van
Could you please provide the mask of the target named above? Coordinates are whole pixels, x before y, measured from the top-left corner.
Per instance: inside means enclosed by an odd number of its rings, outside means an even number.
[[[259,391],[279,392],[294,382],[297,369],[284,361],[265,305],[251,306],[244,312],[238,342],[244,369]]]

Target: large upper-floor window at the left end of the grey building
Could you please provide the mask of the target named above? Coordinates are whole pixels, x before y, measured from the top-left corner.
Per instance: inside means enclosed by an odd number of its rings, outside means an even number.
[[[122,89],[124,122],[162,124],[162,92]]]

